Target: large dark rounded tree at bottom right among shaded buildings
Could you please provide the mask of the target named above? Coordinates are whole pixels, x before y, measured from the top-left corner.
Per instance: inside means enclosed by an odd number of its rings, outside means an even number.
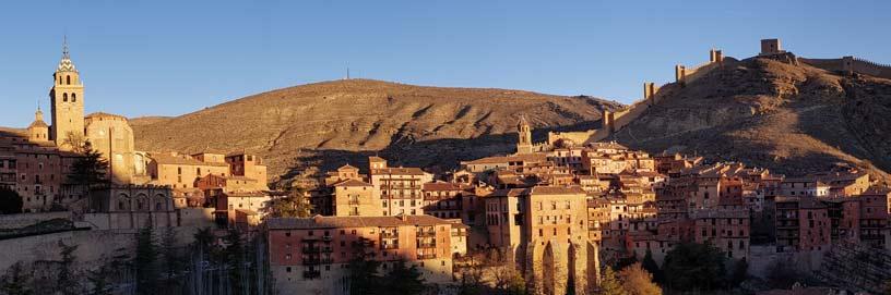
[[[668,288],[714,290],[723,286],[724,253],[711,244],[681,243],[665,256],[663,273]]]

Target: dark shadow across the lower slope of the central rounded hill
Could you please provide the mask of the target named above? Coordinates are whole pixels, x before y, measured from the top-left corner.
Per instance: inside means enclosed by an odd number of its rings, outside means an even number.
[[[601,121],[598,120],[536,128],[533,131],[533,140],[546,142],[548,132],[585,131],[599,126]],[[387,159],[390,167],[418,167],[432,173],[447,172],[458,169],[461,161],[514,152],[516,136],[516,133],[508,133],[486,134],[474,138],[415,140],[411,136],[396,134],[391,138],[391,144],[381,150],[302,149],[299,152],[300,156],[294,159],[296,164],[287,168],[282,179],[302,175],[304,171],[312,167],[319,169],[318,173],[302,176],[320,176],[347,163],[367,173],[370,156]]]

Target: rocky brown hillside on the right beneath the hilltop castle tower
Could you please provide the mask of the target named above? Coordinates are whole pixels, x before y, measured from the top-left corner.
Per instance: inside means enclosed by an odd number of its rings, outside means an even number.
[[[685,86],[667,85],[614,139],[787,174],[857,165],[888,180],[891,81],[792,61],[727,61]]]

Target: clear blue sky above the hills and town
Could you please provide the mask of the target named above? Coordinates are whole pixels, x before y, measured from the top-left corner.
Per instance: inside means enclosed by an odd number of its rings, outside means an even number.
[[[551,3],[547,3],[551,2]],[[2,1],[0,115],[26,126],[68,35],[86,111],[179,115],[345,75],[630,102],[715,47],[891,63],[891,1]]]

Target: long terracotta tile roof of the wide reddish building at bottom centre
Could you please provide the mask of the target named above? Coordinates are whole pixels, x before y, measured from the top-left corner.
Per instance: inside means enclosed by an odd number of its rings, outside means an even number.
[[[403,220],[402,218],[405,218]],[[337,229],[337,228],[373,228],[400,225],[451,225],[449,221],[431,216],[405,217],[323,217],[312,218],[271,218],[266,221],[270,230]]]

